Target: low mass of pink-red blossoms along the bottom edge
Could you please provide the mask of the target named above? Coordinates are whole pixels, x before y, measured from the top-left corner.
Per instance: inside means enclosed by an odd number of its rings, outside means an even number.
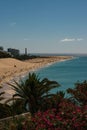
[[[28,123],[29,130],[86,130],[87,106],[81,108],[64,101],[59,110],[39,111]]]

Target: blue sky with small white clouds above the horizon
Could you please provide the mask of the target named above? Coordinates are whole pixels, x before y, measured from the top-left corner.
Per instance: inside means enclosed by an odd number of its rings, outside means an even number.
[[[0,46],[87,53],[87,0],[0,0]]]

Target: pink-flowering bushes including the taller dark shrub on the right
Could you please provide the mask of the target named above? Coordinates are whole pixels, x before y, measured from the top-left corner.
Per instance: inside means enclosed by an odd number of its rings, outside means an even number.
[[[73,100],[61,92],[47,98],[37,113],[17,124],[17,130],[86,130],[87,82],[77,83],[68,92]]]

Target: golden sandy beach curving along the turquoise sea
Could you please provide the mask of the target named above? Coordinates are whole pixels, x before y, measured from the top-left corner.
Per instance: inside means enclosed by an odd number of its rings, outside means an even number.
[[[4,97],[10,98],[14,91],[7,85],[16,77],[21,78],[30,71],[45,67],[48,64],[72,59],[72,56],[51,56],[46,58],[35,58],[26,61],[20,61],[13,58],[0,59],[0,85],[3,88],[0,91],[5,91]]]

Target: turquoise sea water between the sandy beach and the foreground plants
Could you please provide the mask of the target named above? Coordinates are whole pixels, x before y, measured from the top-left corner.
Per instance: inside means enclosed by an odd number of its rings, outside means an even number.
[[[61,85],[60,88],[54,89],[52,92],[66,91],[67,88],[73,88],[77,81],[87,80],[87,57],[75,57],[72,60],[57,62],[36,71],[36,73],[40,78],[47,77]]]

